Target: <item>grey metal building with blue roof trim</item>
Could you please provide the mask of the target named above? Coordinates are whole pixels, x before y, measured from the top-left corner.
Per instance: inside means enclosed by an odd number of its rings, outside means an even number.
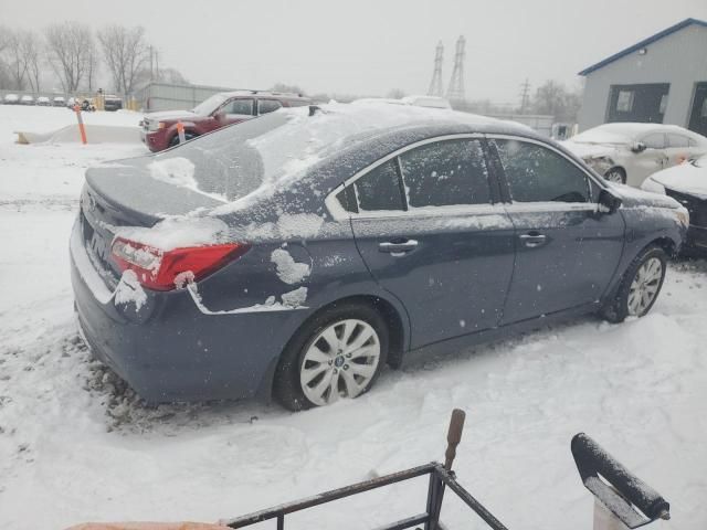
[[[707,22],[686,19],[579,73],[580,130],[609,121],[673,124],[707,135]]]

